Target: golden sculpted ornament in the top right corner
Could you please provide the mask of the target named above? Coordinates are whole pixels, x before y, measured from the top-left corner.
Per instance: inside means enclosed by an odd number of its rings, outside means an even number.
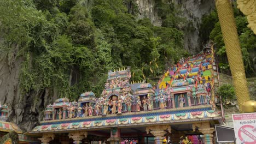
[[[249,25],[253,33],[256,34],[256,0],[237,0],[237,8],[246,15]]]

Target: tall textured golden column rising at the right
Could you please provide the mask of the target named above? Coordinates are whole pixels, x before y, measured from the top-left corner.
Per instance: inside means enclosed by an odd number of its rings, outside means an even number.
[[[234,12],[229,0],[216,0],[216,8],[222,28],[226,54],[230,65],[238,106],[242,111],[242,105],[249,100],[249,91],[246,85],[245,68],[243,66],[242,53],[236,29]]]

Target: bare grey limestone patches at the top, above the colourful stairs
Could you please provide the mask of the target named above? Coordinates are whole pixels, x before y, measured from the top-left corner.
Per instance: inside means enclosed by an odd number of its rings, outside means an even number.
[[[147,17],[151,20],[154,26],[161,26],[161,18],[158,16],[158,11],[155,10],[155,1],[160,0],[136,0],[139,14],[138,18]],[[164,0],[162,0],[164,1]],[[201,40],[199,37],[199,28],[202,16],[209,14],[215,7],[214,1],[207,0],[169,0],[166,3],[173,2],[180,9],[179,16],[187,18],[187,23],[183,23],[184,27],[184,49],[190,53],[201,51]]]

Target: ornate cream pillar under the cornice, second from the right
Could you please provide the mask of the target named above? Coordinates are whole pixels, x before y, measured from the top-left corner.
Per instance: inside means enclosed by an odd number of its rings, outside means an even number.
[[[155,136],[154,140],[155,140],[155,144],[162,144],[162,140],[166,134],[166,130],[169,131],[169,133],[171,133],[171,126],[170,125],[153,125],[153,126],[149,126],[146,127],[146,131],[147,134],[149,134],[149,132]]]

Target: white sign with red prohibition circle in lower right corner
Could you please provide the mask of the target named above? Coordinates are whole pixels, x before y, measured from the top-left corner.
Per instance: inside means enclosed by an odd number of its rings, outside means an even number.
[[[233,114],[237,144],[256,143],[256,113]]]

